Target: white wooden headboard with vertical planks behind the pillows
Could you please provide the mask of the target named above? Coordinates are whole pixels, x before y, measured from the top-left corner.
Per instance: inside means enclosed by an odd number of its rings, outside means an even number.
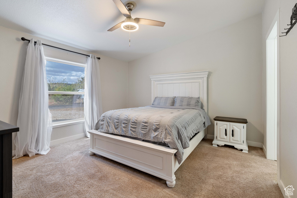
[[[208,71],[151,75],[151,102],[157,96],[200,96],[200,108],[207,113],[207,76]]]

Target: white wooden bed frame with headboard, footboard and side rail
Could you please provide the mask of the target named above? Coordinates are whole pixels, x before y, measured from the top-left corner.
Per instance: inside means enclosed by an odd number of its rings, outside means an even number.
[[[207,113],[207,76],[208,71],[186,72],[177,74],[152,75],[151,101],[156,96],[200,96],[201,108]],[[95,153],[113,159],[122,164],[147,172],[166,180],[167,186],[175,186],[174,172],[178,164],[174,153],[176,149],[121,137],[114,134],[89,131],[91,135],[89,154]],[[196,134],[190,141],[189,148],[184,149],[183,161],[190,155],[207,131]]]

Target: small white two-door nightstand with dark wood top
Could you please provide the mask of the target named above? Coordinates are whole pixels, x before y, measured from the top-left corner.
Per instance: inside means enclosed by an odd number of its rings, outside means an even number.
[[[214,118],[213,146],[225,144],[247,153],[247,119],[217,116]]]

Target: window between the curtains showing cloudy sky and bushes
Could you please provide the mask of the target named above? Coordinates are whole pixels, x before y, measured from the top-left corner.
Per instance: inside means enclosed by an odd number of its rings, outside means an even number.
[[[48,108],[53,124],[84,119],[84,64],[46,58]]]

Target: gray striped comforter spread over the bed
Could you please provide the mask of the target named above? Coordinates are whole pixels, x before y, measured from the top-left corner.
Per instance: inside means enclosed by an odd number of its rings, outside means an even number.
[[[151,105],[105,112],[95,130],[164,142],[177,149],[176,158],[180,164],[191,137],[208,125],[210,120],[203,109]]]

